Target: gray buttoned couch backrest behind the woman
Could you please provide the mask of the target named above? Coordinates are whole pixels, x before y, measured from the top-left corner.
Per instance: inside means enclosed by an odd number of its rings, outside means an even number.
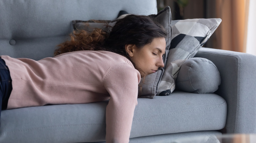
[[[156,0],[1,0],[0,55],[52,57],[56,45],[67,40],[72,20],[113,20],[120,10],[157,13]]]

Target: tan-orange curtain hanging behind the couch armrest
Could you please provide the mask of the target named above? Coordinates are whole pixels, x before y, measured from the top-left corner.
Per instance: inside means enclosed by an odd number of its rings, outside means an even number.
[[[249,0],[216,0],[216,17],[222,23],[216,30],[220,49],[246,52]]]

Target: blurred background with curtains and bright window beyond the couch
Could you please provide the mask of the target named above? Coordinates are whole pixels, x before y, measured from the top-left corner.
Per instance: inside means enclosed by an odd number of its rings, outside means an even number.
[[[157,0],[158,11],[171,8],[172,20],[221,18],[203,47],[256,55],[256,0]]]

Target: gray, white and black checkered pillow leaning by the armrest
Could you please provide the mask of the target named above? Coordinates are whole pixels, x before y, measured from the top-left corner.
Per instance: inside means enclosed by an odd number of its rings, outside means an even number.
[[[172,41],[165,71],[158,85],[159,96],[166,96],[173,92],[181,64],[196,55],[221,21],[219,18],[172,21]]]

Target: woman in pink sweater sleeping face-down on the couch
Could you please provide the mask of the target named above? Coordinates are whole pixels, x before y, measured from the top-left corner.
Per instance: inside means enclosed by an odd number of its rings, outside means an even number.
[[[138,83],[164,66],[165,36],[150,17],[128,15],[109,34],[75,32],[53,58],[1,56],[2,109],[109,100],[106,142],[129,142]]]

